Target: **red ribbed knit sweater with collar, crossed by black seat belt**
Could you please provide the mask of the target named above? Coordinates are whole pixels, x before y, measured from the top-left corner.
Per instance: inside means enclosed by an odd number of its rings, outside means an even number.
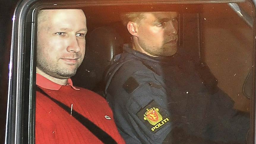
[[[75,88],[69,79],[61,86],[37,74],[37,86],[54,99],[71,107],[107,132],[117,143],[125,143],[114,123],[113,113],[104,98],[84,88]],[[111,118],[111,119],[110,119]],[[36,144],[102,143],[70,113],[39,91],[36,92]]]

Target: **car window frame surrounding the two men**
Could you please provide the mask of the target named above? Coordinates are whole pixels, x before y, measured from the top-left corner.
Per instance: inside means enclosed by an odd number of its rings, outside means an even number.
[[[245,0],[143,0],[140,4],[200,4],[200,3],[239,3]],[[251,1],[255,6],[256,0]],[[34,143],[35,114],[35,73],[36,73],[36,28],[37,12],[42,8],[74,8],[84,6],[136,5],[137,0],[87,0],[49,2],[47,0],[20,1],[13,15],[11,56],[7,99],[7,119],[5,143]],[[253,36],[256,37],[255,10]],[[255,39],[254,39],[255,56]],[[255,65],[255,58],[253,60]],[[253,67],[253,88],[251,98],[250,143],[255,139],[255,67]]]

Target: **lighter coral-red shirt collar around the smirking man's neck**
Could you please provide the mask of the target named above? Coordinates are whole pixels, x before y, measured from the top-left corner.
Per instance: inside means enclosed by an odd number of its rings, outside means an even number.
[[[48,80],[46,77],[43,77],[42,75],[40,75],[38,73],[36,76],[36,84],[42,88],[56,90],[56,91],[58,91],[62,86],[62,85],[59,85],[57,83],[54,83],[54,82]],[[67,80],[66,86],[71,86],[75,90],[79,90],[79,88],[76,88],[75,86],[73,86],[72,80],[70,78]]]

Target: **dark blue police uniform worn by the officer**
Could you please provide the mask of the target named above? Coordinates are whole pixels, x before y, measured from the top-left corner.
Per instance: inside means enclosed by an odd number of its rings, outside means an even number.
[[[184,53],[150,57],[124,47],[106,75],[106,98],[128,144],[246,143],[249,117]]]

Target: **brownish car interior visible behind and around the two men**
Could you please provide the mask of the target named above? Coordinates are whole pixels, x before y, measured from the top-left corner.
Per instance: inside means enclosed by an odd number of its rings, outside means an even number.
[[[235,106],[248,112],[252,89],[252,75],[249,73],[253,62],[253,32],[250,23],[238,16],[234,6],[238,4],[109,6],[104,7],[104,13],[98,10],[100,6],[85,7],[83,10],[88,21],[86,55],[77,74],[72,77],[73,83],[104,96],[105,70],[113,56],[122,53],[123,44],[131,43],[131,36],[121,23],[121,13],[177,10],[179,48],[193,59],[206,63],[217,78],[218,86],[232,97]],[[249,3],[239,6],[247,11],[248,7],[252,8]]]

